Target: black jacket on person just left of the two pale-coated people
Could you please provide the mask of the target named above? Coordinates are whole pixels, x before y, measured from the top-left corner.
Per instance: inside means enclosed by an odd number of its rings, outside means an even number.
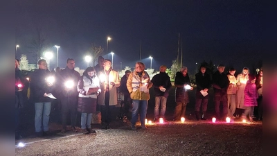
[[[220,73],[219,71],[215,71],[213,73],[213,90],[215,96],[224,96],[227,94],[227,88],[229,87],[229,78],[225,73]]]

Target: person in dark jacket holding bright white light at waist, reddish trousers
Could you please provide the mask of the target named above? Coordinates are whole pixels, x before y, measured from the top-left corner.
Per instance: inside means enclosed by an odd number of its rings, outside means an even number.
[[[190,77],[188,76],[187,67],[182,67],[181,70],[176,73],[174,84],[176,87],[176,107],[173,121],[179,121],[181,117],[185,117],[186,114],[186,105],[189,103],[188,90],[193,90],[193,87],[190,87]]]

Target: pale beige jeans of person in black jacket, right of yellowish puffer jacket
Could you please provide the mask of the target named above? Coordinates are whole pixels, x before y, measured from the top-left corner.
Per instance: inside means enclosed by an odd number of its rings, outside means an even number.
[[[154,108],[154,118],[159,119],[159,108],[161,105],[161,118],[164,118],[166,114],[166,100],[165,96],[156,96],[155,97],[155,108]]]

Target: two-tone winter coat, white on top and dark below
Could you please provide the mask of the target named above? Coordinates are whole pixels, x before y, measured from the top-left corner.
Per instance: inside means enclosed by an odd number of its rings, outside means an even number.
[[[78,98],[78,112],[87,112],[92,113],[93,105],[96,105],[96,94],[87,95],[87,92],[89,91],[90,87],[99,87],[98,93],[101,92],[100,89],[100,83],[97,76],[93,76],[93,78],[87,78],[87,76],[81,76],[78,85],[77,90],[79,92],[79,98]],[[89,98],[93,98],[94,100],[91,100]]]

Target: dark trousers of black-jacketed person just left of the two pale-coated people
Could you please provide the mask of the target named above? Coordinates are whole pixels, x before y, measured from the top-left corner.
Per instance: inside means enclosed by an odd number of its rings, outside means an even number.
[[[227,94],[215,94],[215,116],[217,119],[225,119],[228,115]],[[220,116],[220,104],[222,104],[222,116]],[[221,118],[222,117],[222,118]]]

